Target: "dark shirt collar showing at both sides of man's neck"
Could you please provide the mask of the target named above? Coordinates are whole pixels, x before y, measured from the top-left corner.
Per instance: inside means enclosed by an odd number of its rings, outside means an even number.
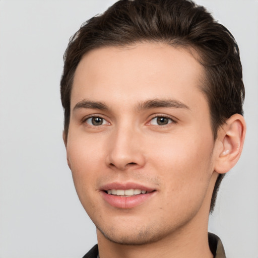
[[[224,247],[220,238],[212,233],[209,233],[208,237],[209,246],[214,258],[226,258]],[[96,244],[83,256],[83,258],[98,258],[98,254],[98,245]]]

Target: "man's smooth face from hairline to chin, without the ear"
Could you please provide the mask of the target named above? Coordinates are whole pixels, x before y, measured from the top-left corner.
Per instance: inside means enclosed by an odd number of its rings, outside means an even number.
[[[144,244],[208,217],[214,141],[203,73],[189,51],[158,43],[80,61],[67,157],[98,237]]]

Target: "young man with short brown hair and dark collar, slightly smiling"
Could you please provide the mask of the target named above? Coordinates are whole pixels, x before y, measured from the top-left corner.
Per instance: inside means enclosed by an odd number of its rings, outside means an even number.
[[[237,44],[186,0],[118,1],[64,56],[63,139],[97,228],[84,257],[225,257],[208,234],[244,136]]]

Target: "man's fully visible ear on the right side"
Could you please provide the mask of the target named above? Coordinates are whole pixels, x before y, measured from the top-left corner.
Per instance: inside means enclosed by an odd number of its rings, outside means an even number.
[[[228,172],[240,158],[246,125],[242,115],[234,114],[219,128],[216,140],[215,171]]]

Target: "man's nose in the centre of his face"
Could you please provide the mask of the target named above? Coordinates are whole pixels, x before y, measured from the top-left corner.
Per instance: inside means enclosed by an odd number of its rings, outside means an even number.
[[[112,169],[137,169],[145,165],[142,135],[132,128],[120,128],[109,138],[107,166]]]

